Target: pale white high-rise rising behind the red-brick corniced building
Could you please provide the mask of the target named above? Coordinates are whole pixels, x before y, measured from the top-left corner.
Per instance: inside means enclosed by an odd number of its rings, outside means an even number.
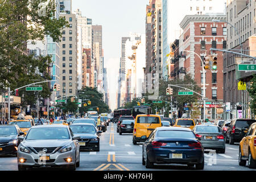
[[[166,56],[170,53],[170,44],[178,39],[183,30],[179,23],[185,15],[204,15],[214,13],[225,13],[226,0],[162,0],[162,43],[163,43],[163,78],[168,77],[167,66],[170,67],[170,62]],[[170,76],[169,76],[170,77]]]

